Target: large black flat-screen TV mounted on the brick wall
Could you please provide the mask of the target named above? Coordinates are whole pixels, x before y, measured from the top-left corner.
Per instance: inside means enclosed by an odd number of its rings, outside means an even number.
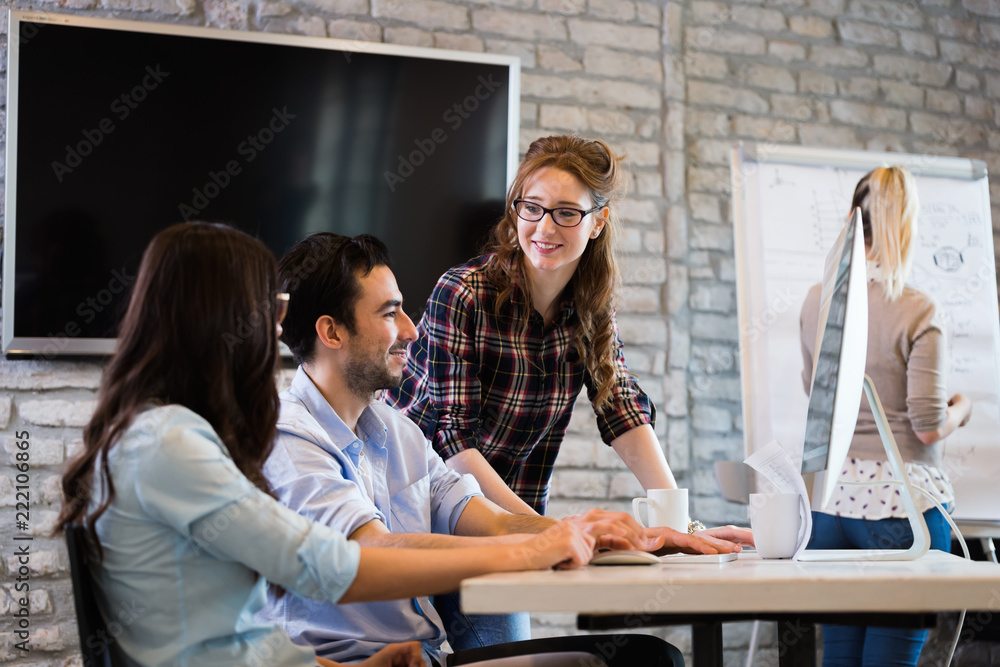
[[[8,355],[111,352],[142,251],[175,222],[228,222],[278,256],[375,234],[417,315],[503,213],[515,57],[22,11],[9,34]]]

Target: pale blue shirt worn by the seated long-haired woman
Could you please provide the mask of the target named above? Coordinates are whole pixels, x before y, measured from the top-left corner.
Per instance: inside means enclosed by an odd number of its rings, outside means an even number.
[[[115,498],[96,525],[104,559],[89,561],[130,664],[315,667],[312,649],[253,615],[267,581],[332,607],[357,574],[356,543],[257,489],[212,426],[181,406],[139,415],[108,463]],[[103,496],[95,473],[91,510]]]

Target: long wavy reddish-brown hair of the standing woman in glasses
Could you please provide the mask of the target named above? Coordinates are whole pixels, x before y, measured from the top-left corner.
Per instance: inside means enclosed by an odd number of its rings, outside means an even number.
[[[619,380],[615,368],[615,341],[612,313],[615,290],[620,282],[614,249],[620,221],[615,203],[628,189],[628,172],[622,166],[624,155],[615,155],[599,139],[556,136],[536,139],[528,147],[514,182],[507,191],[507,210],[490,232],[487,252],[495,253],[486,267],[486,275],[500,290],[497,308],[510,301],[518,288],[531,303],[531,285],[524,269],[524,254],[517,238],[517,213],[514,200],[524,194],[524,184],[539,169],[554,167],[576,176],[590,191],[595,206],[610,210],[600,236],[590,239],[570,283],[577,322],[571,345],[597,387],[594,405],[604,411],[611,405],[611,395]],[[525,323],[529,313],[524,313]]]

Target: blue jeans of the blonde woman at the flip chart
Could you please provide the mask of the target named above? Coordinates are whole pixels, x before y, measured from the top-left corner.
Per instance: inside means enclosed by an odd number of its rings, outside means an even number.
[[[931,549],[951,551],[951,529],[937,509],[924,512]],[[913,531],[907,519],[847,519],[813,512],[810,549],[907,549]],[[865,625],[823,626],[823,667],[913,667],[927,630]]]

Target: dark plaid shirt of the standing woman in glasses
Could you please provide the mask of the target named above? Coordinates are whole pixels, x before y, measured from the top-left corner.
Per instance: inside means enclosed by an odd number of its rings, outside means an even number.
[[[430,299],[418,339],[410,344],[404,380],[385,400],[406,413],[448,459],[475,448],[522,500],[545,512],[552,465],[586,385],[595,387],[570,346],[576,314],[566,297],[556,320],[542,317],[520,292],[495,309],[498,291],[478,257],[445,273]],[[528,326],[518,313],[530,312]],[[611,409],[597,414],[601,439],[652,424],[655,408],[628,373],[618,325],[618,381]]]

